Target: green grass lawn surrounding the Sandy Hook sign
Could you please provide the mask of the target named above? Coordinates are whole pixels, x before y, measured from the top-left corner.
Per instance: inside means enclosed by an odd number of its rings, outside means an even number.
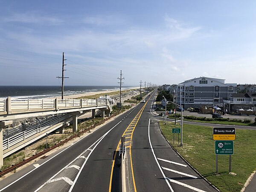
[[[209,182],[221,192],[240,192],[247,178],[256,170],[256,131],[236,129],[234,154],[232,155],[232,172],[229,174],[229,155],[218,155],[218,174],[215,173],[215,146],[212,140],[212,127],[183,125],[183,147],[173,144],[172,128],[179,124],[160,122],[164,136],[175,149]]]

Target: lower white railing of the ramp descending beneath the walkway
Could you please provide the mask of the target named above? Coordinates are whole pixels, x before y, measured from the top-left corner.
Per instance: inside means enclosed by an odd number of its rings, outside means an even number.
[[[69,119],[72,115],[61,114],[57,116],[51,116],[50,118],[37,120],[28,124],[20,125],[12,130],[3,130],[3,150],[9,149],[11,146],[32,137],[35,134],[41,133],[45,129],[52,127],[66,119]]]

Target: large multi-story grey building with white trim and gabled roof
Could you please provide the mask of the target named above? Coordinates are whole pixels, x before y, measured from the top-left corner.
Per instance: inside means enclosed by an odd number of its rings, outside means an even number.
[[[183,108],[205,105],[223,107],[223,98],[236,93],[236,83],[225,83],[225,79],[199,77],[186,80],[175,87],[176,103]]]

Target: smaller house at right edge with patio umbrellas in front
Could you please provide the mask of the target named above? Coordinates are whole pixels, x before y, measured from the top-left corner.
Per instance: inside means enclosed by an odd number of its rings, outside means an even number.
[[[223,101],[229,113],[237,110],[256,110],[256,93],[232,93]]]

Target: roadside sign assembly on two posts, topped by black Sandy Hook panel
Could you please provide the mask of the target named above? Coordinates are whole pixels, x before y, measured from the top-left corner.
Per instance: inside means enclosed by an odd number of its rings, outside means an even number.
[[[231,172],[231,155],[234,154],[236,129],[233,127],[213,128],[212,137],[215,140],[216,173],[218,173],[218,155],[230,155],[229,171]]]

